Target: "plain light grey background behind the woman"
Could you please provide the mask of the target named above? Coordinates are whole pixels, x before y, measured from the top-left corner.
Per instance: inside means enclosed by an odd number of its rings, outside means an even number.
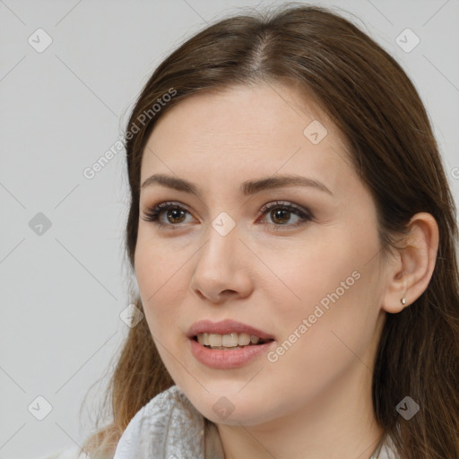
[[[82,444],[105,385],[91,391],[80,419],[83,396],[126,336],[123,152],[92,179],[83,169],[117,141],[170,50],[236,7],[279,3],[0,0],[0,459]],[[457,201],[458,1],[309,3],[355,14],[403,65],[433,120]],[[42,53],[28,43],[39,28],[53,40]],[[410,53],[395,42],[406,28],[420,38]],[[41,235],[29,226],[38,212],[51,221]],[[39,395],[53,408],[44,420],[28,410]]]

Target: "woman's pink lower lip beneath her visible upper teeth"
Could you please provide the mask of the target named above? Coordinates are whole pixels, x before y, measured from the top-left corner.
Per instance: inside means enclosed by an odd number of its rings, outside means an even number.
[[[190,339],[191,353],[195,359],[210,368],[239,368],[246,365],[249,361],[260,357],[262,354],[273,345],[273,341],[264,342],[264,344],[256,344],[245,346],[233,351],[221,351],[218,349],[204,348],[202,344]]]

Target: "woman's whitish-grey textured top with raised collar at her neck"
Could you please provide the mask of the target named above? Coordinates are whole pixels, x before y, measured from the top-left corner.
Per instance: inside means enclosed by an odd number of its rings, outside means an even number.
[[[91,459],[78,447],[42,459]],[[156,395],[134,415],[113,459],[224,459],[218,430],[177,385]],[[388,438],[370,459],[397,459]]]

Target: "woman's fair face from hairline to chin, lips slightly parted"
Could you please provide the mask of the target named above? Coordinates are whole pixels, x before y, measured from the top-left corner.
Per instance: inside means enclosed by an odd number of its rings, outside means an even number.
[[[325,114],[281,84],[190,97],[152,132],[141,184],[154,175],[169,186],[141,188],[135,273],[161,359],[195,407],[256,425],[331,397],[370,403],[377,212]],[[243,345],[252,334],[271,341]]]

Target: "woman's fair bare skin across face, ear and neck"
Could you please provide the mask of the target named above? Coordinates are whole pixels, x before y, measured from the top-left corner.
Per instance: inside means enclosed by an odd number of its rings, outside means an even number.
[[[313,120],[328,132],[317,144],[303,134]],[[429,283],[435,220],[414,216],[408,248],[385,256],[375,204],[342,136],[311,100],[281,83],[181,101],[160,119],[143,154],[141,183],[158,173],[186,178],[202,195],[142,188],[139,291],[161,359],[217,424],[226,459],[368,459],[383,433],[371,402],[377,343],[386,313],[403,309],[403,295],[409,307]],[[279,174],[314,178],[333,195],[311,186],[238,195],[242,182]],[[295,212],[260,216],[277,200],[312,218],[293,228]],[[186,213],[173,220],[162,212],[162,228],[143,220],[165,201]],[[212,228],[221,212],[236,223],[226,236]],[[356,272],[359,279],[275,362],[262,355],[241,368],[214,369],[191,354],[186,332],[201,319],[255,326],[273,334],[275,349]],[[222,396],[234,406],[226,420],[212,410]]]

